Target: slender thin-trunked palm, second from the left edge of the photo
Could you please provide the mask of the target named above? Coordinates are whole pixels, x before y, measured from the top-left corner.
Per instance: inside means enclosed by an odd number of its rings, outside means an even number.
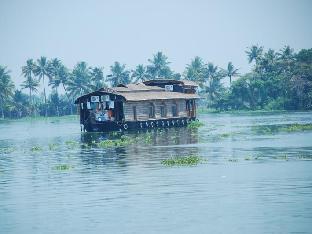
[[[22,67],[22,74],[26,78],[26,80],[22,83],[23,89],[29,89],[29,105],[30,105],[30,112],[32,113],[33,110],[33,100],[32,100],[32,93],[37,92],[37,87],[39,87],[39,81],[35,79],[32,75],[34,75],[35,70],[35,63],[32,59],[28,59],[26,61],[26,66]]]

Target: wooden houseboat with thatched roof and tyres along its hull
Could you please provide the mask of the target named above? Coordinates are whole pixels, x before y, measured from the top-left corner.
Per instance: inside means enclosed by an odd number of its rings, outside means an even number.
[[[75,100],[82,131],[105,132],[185,126],[196,119],[198,85],[149,80],[101,88]]]

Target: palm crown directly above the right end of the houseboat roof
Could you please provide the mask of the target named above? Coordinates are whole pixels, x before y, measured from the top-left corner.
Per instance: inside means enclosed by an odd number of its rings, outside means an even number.
[[[191,61],[191,64],[186,65],[184,77],[187,80],[201,82],[203,80],[203,75],[204,75],[204,62],[200,57],[196,56]]]

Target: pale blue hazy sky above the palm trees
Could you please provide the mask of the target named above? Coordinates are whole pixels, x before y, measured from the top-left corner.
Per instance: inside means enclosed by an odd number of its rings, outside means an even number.
[[[0,65],[17,85],[28,58],[60,58],[128,68],[164,52],[176,72],[195,56],[225,67],[250,69],[253,44],[278,50],[312,47],[312,1],[16,1],[0,0]]]

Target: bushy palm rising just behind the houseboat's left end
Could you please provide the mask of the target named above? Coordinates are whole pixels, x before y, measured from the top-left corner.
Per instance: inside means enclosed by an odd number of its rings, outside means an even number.
[[[67,90],[72,98],[91,91],[91,76],[86,62],[79,62],[74,67],[70,79],[67,81]]]

